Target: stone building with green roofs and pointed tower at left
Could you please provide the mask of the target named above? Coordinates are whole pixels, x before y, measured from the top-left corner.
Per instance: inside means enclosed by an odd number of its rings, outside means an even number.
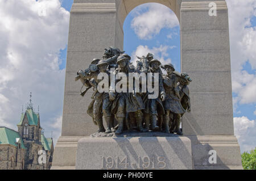
[[[18,132],[0,127],[0,170],[50,169],[53,141],[44,136],[31,101],[17,126]]]

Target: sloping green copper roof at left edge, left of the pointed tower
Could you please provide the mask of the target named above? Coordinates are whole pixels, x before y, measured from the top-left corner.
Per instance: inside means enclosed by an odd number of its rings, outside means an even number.
[[[20,146],[23,149],[26,149],[23,144],[22,138],[19,136],[18,132],[6,127],[0,127],[0,144],[10,144],[18,146],[18,144],[16,144],[16,138],[20,139]]]

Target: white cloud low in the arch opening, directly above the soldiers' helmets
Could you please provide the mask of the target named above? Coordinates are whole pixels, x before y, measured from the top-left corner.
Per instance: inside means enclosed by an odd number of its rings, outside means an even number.
[[[159,47],[148,48],[147,45],[139,45],[137,49],[131,54],[131,62],[136,66],[136,61],[138,58],[136,56],[146,56],[147,53],[154,54],[155,58],[158,59],[163,65],[171,63],[171,58],[169,56],[168,50],[176,48],[175,46],[160,45]]]

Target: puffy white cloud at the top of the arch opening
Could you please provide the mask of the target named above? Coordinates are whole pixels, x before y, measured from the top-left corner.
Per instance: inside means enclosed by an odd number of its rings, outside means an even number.
[[[144,11],[148,9],[148,11]],[[131,22],[131,28],[140,39],[152,39],[158,35],[162,28],[174,28],[179,26],[179,20],[175,13],[167,6],[158,3],[147,3],[137,7],[136,16]]]

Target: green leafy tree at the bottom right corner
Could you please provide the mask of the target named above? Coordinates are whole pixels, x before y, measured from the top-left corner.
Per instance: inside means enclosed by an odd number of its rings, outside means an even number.
[[[242,165],[245,170],[256,170],[256,148],[250,153],[243,152]]]

